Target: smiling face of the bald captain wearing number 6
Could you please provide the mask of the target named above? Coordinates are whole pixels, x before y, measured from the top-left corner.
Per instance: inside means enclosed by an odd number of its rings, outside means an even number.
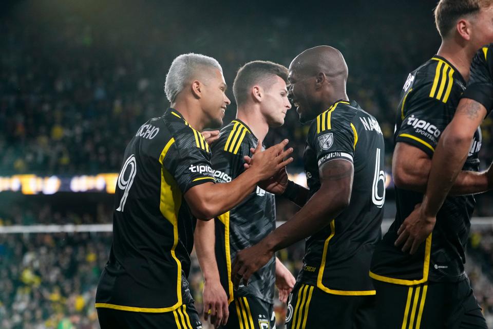
[[[288,97],[296,107],[299,121],[308,122],[318,114],[315,92],[316,77],[306,76],[300,69],[295,58],[289,66],[288,82],[290,83]]]

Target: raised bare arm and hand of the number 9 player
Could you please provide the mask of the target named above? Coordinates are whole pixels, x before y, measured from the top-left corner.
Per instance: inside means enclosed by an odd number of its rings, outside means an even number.
[[[284,150],[285,139],[265,151],[257,146],[257,155],[252,159],[251,168],[236,179],[225,184],[204,183],[189,189],[184,197],[192,213],[200,220],[208,221],[238,205],[247,197],[261,180],[272,177],[279,169],[293,161],[288,158],[293,149]]]

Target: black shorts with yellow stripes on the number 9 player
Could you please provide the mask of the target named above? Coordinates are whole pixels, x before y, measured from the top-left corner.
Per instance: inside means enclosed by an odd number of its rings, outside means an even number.
[[[101,329],[202,329],[193,303],[183,304],[173,312],[143,313],[98,307]]]

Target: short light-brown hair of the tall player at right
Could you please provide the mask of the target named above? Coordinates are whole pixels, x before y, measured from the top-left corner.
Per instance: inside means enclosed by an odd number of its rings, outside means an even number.
[[[461,17],[477,14],[481,8],[488,7],[492,3],[493,0],[440,0],[434,16],[435,25],[442,39],[449,36]]]

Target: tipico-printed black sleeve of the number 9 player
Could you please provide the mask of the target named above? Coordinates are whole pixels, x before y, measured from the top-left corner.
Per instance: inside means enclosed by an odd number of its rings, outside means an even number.
[[[216,181],[208,146],[205,141],[197,144],[193,134],[179,133],[164,157],[163,168],[175,178],[182,194],[194,186]]]

